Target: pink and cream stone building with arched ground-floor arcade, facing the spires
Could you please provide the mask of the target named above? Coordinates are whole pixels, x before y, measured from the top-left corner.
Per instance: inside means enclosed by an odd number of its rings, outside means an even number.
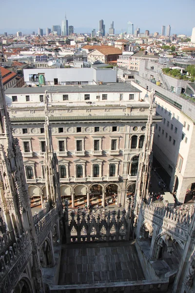
[[[92,92],[93,89],[96,92]],[[48,91],[61,196],[68,198],[74,207],[78,198],[87,198],[89,203],[95,193],[105,206],[108,195],[115,193],[117,205],[124,206],[127,194],[136,187],[149,103],[141,100],[139,90],[124,84],[90,86],[89,89],[75,86],[71,87],[72,92],[68,90],[62,87],[61,93],[59,89]],[[12,102],[8,107],[13,134],[20,142],[30,197],[40,197],[41,202],[46,197],[44,117],[43,106],[38,104],[42,91],[43,87],[24,88],[15,93],[7,91],[5,97],[7,101],[18,97],[18,103]],[[28,107],[23,102],[27,94],[31,101]],[[64,96],[68,100],[63,101]],[[153,115],[153,123],[156,123],[160,117],[156,117],[155,112]]]

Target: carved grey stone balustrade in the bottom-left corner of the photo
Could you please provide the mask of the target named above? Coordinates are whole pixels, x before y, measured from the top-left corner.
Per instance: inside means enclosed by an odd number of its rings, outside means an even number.
[[[23,233],[9,250],[0,256],[0,292],[10,292],[31,256],[32,246],[28,233]]]

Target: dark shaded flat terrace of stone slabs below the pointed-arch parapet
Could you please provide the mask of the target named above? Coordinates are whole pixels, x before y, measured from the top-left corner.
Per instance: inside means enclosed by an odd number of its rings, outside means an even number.
[[[59,285],[145,280],[134,242],[64,245]]]

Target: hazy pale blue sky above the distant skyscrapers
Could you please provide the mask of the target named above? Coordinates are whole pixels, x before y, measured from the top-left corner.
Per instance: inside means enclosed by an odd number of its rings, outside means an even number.
[[[65,12],[69,25],[75,32],[89,32],[98,29],[98,21],[103,19],[106,32],[114,21],[116,32],[127,30],[127,21],[139,27],[140,32],[161,32],[161,26],[171,25],[171,34],[192,34],[195,27],[195,0],[46,0],[2,1],[0,33],[16,33],[18,30],[32,33],[38,27],[51,28],[61,24]]]

